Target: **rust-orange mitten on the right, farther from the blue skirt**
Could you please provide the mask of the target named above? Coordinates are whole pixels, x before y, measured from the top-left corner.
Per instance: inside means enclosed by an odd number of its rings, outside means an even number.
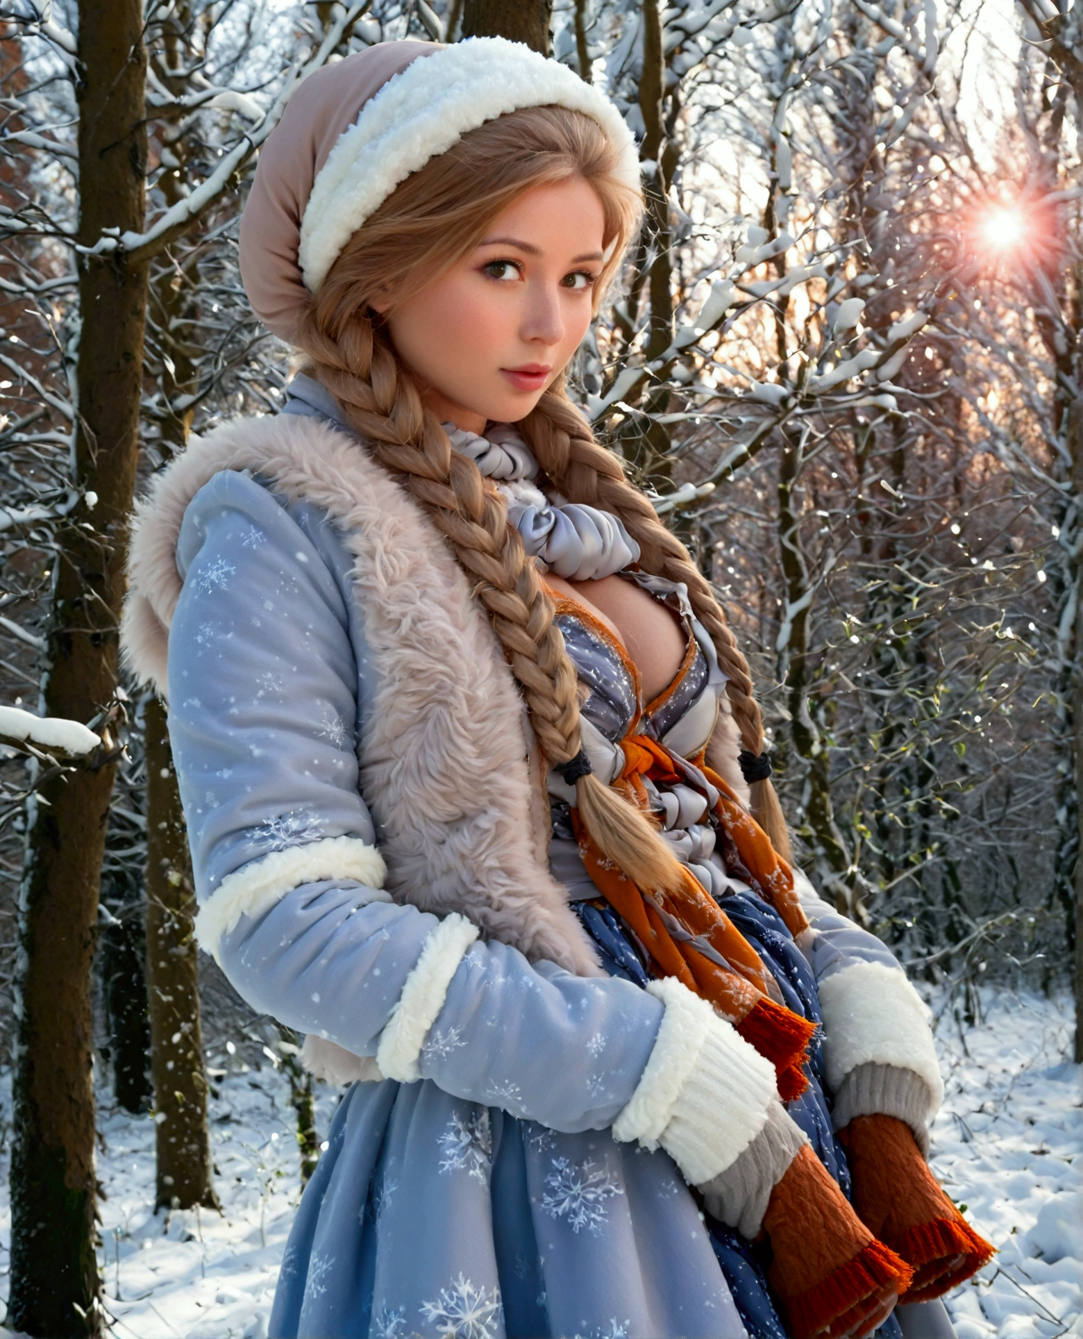
[[[914,1271],[906,1302],[929,1302],[993,1256],[937,1185],[910,1127],[893,1115],[858,1115],[841,1134],[858,1217]]]

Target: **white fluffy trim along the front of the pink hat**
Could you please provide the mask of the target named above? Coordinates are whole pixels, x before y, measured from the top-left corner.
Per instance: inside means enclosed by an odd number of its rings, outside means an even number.
[[[299,262],[317,293],[361,224],[411,173],[467,131],[522,107],[568,107],[596,121],[620,150],[618,174],[640,189],[632,133],[609,99],[556,60],[505,37],[470,37],[414,60],[369,98],[312,183]]]

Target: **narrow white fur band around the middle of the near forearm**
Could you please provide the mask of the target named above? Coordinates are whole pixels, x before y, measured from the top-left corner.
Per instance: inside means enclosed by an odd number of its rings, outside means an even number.
[[[432,931],[422,956],[403,984],[403,992],[380,1034],[376,1063],[380,1073],[400,1083],[422,1077],[418,1059],[430,1027],[447,999],[447,987],[463,955],[478,937],[478,927],[452,912]]]

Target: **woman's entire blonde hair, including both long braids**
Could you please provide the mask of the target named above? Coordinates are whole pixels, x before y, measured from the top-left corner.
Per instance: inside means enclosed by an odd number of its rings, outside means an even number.
[[[554,621],[553,601],[507,506],[477,465],[452,450],[420,388],[402,363],[386,324],[368,305],[407,283],[436,277],[470,254],[486,228],[517,197],[539,185],[585,178],[605,218],[608,260],[598,293],[620,265],[641,202],[614,179],[616,155],[601,127],[562,107],[530,107],[471,131],[408,177],[351,238],[312,299],[297,344],[307,370],[335,396],[349,426],[395,474],[444,536],[471,580],[522,690],[538,746],[550,766],[573,763],[582,749],[577,675]],[[763,730],[751,676],[711,588],[688,550],[659,522],[620,462],[600,447],[562,388],[542,396],[521,424],[546,474],[570,501],[593,502],[624,521],[643,550],[641,565],[688,585],[692,607],[711,632],[730,675],[728,691],[746,749],[759,753]],[[569,771],[569,777],[578,769]],[[641,888],[676,886],[676,860],[649,818],[586,773],[574,781],[588,833]],[[768,836],[784,842],[784,823],[763,803]]]

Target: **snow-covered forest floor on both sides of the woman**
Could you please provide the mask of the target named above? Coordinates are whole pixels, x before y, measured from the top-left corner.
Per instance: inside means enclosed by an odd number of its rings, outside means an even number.
[[[1000,1251],[950,1302],[959,1339],[1083,1336],[1083,1122],[1080,1071],[1066,1060],[1068,1002],[989,991],[984,1006],[984,1020],[965,1032],[945,1014],[938,1038],[948,1091],[934,1166]],[[335,1101],[321,1090],[324,1134]],[[218,1089],[221,1216],[153,1214],[153,1122],[103,1105],[99,1129],[102,1267],[116,1339],[262,1339],[299,1196],[285,1079],[268,1069]],[[7,1275],[5,1160],[0,1177]],[[5,1292],[7,1279],[0,1284]],[[13,1336],[0,1330],[0,1339]]]

